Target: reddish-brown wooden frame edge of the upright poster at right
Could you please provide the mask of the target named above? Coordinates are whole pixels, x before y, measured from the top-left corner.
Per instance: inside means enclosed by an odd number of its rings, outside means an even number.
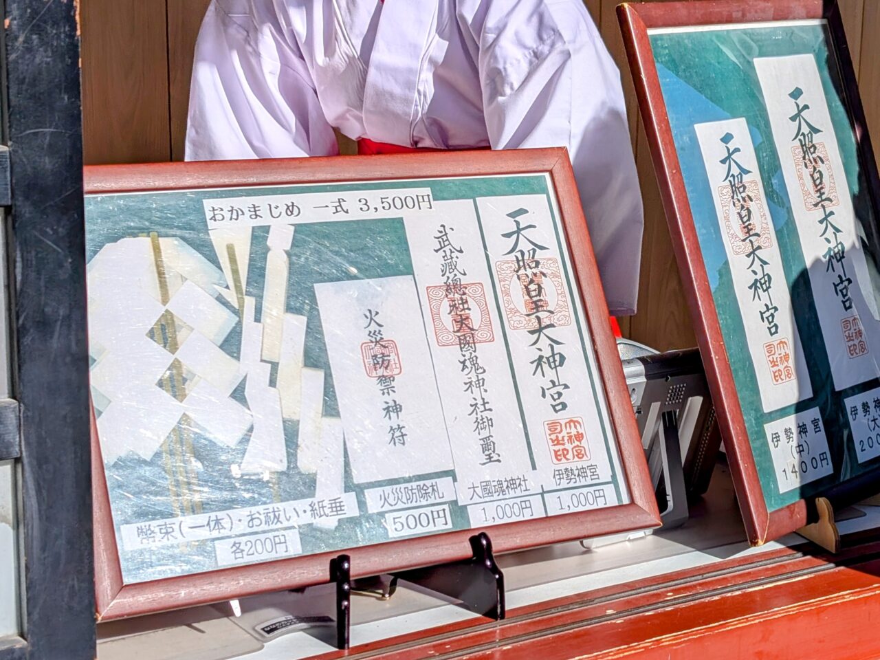
[[[852,112],[851,121],[859,140],[860,156],[869,181],[873,181],[876,187],[876,165],[871,155],[862,102],[855,83],[840,11],[837,4],[830,0],[784,0],[772,3],[764,0],[700,0],[700,2],[651,4],[625,3],[619,5],[618,16],[657,183],[670,227],[672,245],[678,266],[684,275],[683,283],[694,328],[697,331],[700,355],[707,366],[709,388],[715,401],[719,426],[725,444],[730,450],[728,458],[737,499],[749,540],[752,545],[760,545],[767,540],[794,532],[807,524],[807,502],[802,499],[774,511],[766,508],[745,429],[743,411],[739,405],[737,388],[724,347],[715,302],[709,289],[693,215],[687,201],[685,182],[681,175],[669,116],[666,113],[663,92],[657,77],[648,30],[656,27],[722,25],[734,22],[827,19],[840,64],[844,92]],[[875,199],[875,207],[876,202]]]

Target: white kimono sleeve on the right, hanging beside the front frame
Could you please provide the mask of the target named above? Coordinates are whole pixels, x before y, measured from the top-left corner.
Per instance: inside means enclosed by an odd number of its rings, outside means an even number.
[[[634,313],[642,196],[620,73],[596,26],[581,0],[468,4],[492,148],[568,147],[608,306]]]

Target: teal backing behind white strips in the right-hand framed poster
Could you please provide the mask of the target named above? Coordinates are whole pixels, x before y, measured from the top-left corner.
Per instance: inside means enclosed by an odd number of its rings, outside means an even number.
[[[758,74],[752,63],[757,57],[803,54],[816,57],[840,155],[845,164],[856,222],[862,226],[874,224],[875,213],[869,194],[866,193],[867,180],[859,165],[855,136],[842,92],[840,70],[832,55],[831,37],[825,24],[814,23],[649,33],[649,38],[764,499],[768,510],[781,509],[802,497],[816,495],[838,482],[874,469],[878,464],[876,458],[861,465],[858,463],[843,404],[847,397],[876,387],[878,381],[875,379],[841,392],[833,391],[831,369],[825,343],[818,330],[816,306],[791,212],[791,202],[782,178]],[[761,406],[758,382],[749,352],[730,349],[747,345],[744,326],[732,286],[712,187],[709,185],[700,144],[693,128],[698,123],[739,117],[747,122],[754,143],[766,189],[766,203],[779,241],[813,389],[811,399],[767,414]],[[862,236],[865,235],[864,231],[861,233]],[[867,235],[872,235],[872,232]],[[862,247],[876,292],[877,246],[866,245],[862,238]],[[834,472],[800,488],[781,493],[764,425],[813,407],[818,407],[822,415]]]

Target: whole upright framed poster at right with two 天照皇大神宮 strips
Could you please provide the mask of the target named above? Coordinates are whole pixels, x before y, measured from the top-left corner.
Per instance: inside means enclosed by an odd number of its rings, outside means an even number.
[[[752,543],[876,492],[876,163],[833,3],[622,4]]]

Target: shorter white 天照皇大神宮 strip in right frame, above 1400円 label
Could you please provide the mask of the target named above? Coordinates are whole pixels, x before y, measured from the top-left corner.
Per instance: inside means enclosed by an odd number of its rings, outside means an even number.
[[[728,268],[765,413],[809,399],[779,241],[744,119],[693,127],[700,142]]]

